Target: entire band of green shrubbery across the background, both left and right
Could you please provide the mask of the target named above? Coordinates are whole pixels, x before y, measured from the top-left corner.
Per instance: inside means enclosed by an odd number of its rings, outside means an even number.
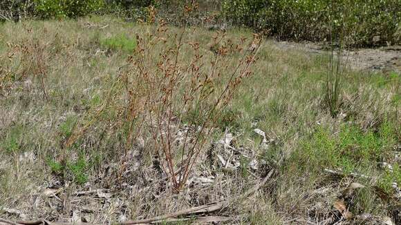
[[[156,6],[174,23],[177,0],[4,0],[0,20],[35,16],[41,19],[80,17],[93,12],[145,19],[147,6]],[[208,1],[198,0],[207,5]],[[220,4],[220,2],[216,3]],[[173,9],[171,11],[171,8]],[[169,10],[167,10],[169,9]],[[330,33],[345,31],[360,46],[401,44],[399,0],[225,0],[223,18],[234,26],[270,30],[280,39],[328,41]],[[174,18],[174,19],[171,19]],[[332,30],[334,28],[334,30]]]

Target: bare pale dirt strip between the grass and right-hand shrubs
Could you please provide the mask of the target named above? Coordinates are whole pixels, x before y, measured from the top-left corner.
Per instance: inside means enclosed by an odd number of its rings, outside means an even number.
[[[295,43],[288,41],[274,42],[281,49],[297,49],[312,54],[324,53],[324,46],[320,43]],[[380,48],[360,48],[348,50],[349,65],[357,70],[371,70],[372,72],[401,72],[401,46]]]

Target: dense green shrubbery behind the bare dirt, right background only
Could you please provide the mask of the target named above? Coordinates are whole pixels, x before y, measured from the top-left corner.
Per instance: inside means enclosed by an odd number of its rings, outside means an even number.
[[[223,14],[234,25],[270,30],[281,39],[322,41],[335,27],[354,44],[401,43],[398,0],[225,0]]]

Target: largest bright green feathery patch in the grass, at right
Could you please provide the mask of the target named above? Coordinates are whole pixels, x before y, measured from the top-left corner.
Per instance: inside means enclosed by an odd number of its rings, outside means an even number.
[[[363,131],[344,124],[339,133],[319,126],[311,137],[301,141],[292,162],[302,171],[339,169],[344,173],[365,172],[374,168],[396,144],[393,124],[384,122],[379,130]]]

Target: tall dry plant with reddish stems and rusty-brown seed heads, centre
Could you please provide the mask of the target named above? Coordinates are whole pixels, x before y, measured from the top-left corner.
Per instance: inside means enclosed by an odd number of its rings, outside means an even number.
[[[185,15],[194,9],[195,5],[187,6]],[[245,39],[234,43],[220,32],[209,52],[200,43],[185,41],[185,25],[178,34],[171,34],[166,25],[160,21],[157,28],[142,37],[137,35],[138,47],[120,79],[127,95],[129,143],[141,134],[150,134],[150,146],[178,191],[187,182],[222,110],[241,81],[252,74],[261,36],[254,35],[248,44]]]

